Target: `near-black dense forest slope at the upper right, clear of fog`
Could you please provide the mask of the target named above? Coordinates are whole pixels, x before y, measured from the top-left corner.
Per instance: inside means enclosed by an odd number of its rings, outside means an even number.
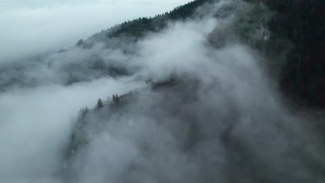
[[[272,0],[269,29],[294,49],[285,54],[281,87],[306,104],[325,107],[325,1]]]

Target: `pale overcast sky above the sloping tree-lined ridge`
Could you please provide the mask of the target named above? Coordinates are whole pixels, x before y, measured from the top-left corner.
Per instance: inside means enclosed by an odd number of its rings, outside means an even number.
[[[125,20],[189,0],[1,0],[0,62],[56,51]]]

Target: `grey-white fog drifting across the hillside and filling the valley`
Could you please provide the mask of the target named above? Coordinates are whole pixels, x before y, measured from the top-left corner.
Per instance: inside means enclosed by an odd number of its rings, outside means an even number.
[[[217,1],[138,42],[3,64],[0,182],[324,182],[322,119],[236,35],[250,8]]]

